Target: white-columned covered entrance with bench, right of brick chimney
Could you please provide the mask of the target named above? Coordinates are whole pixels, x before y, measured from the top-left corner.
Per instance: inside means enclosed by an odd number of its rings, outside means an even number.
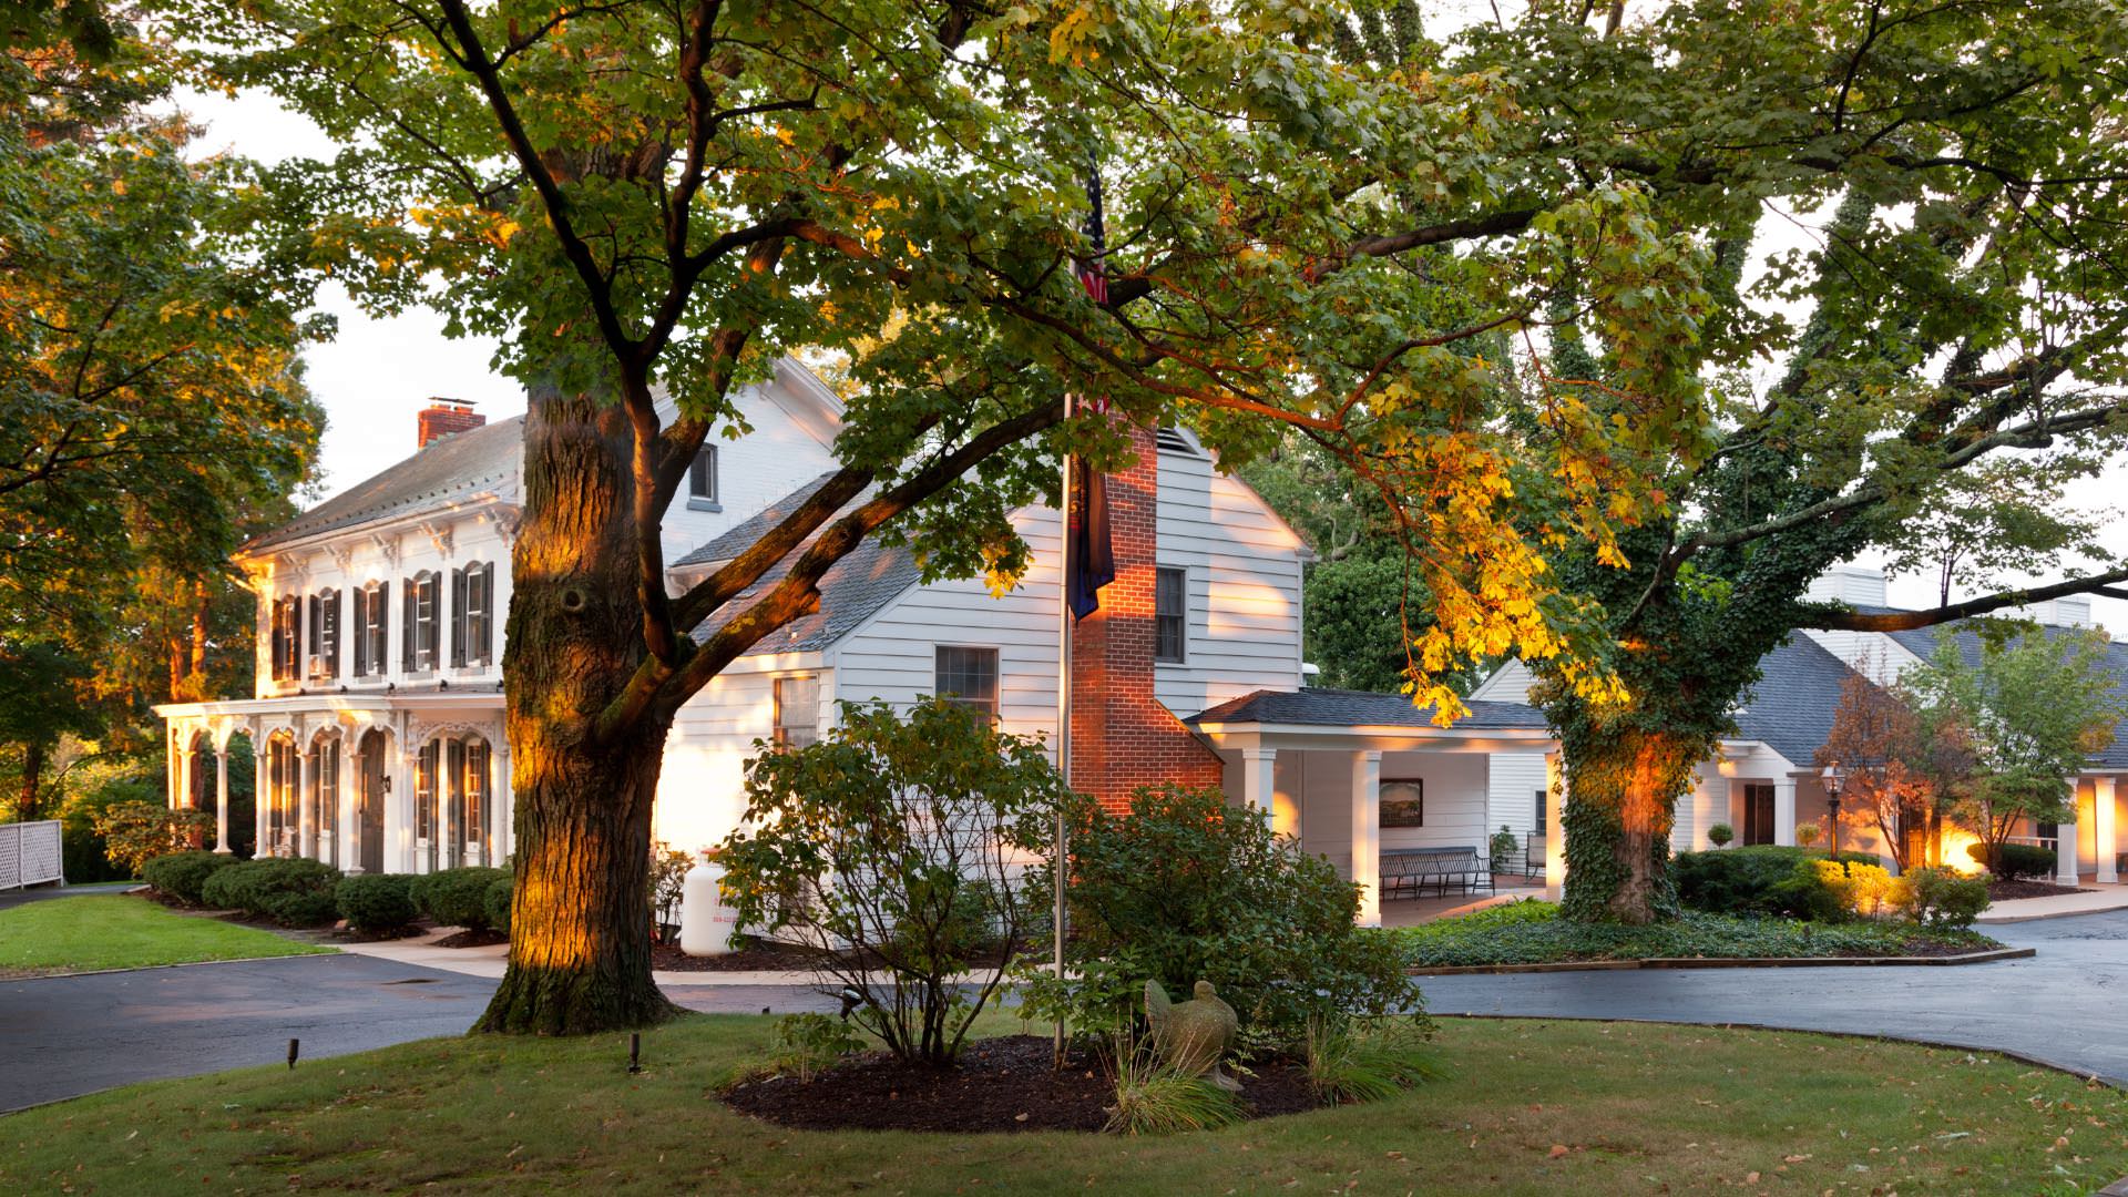
[[[1366,927],[1383,924],[1385,901],[1390,922],[1407,922],[1394,907],[1432,897],[1383,892],[1402,854],[1466,850],[1483,867],[1502,829],[1517,843],[1507,871],[1519,878],[1526,858],[1541,858],[1545,886],[1560,884],[1558,835],[1547,835],[1558,826],[1553,741],[1530,707],[1470,703],[1470,716],[1441,728],[1400,694],[1298,690],[1247,694],[1185,722],[1219,752],[1232,799],[1362,888]]]

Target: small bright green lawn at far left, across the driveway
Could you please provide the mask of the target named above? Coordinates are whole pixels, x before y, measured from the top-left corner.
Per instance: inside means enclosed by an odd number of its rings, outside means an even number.
[[[174,914],[128,895],[49,899],[0,909],[0,978],[332,950],[219,918]]]

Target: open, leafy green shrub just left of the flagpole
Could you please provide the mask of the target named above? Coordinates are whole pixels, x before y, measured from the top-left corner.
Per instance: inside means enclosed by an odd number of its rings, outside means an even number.
[[[819,982],[858,993],[851,1018],[898,1059],[951,1065],[1045,907],[1015,871],[1064,780],[1041,741],[941,699],[843,703],[828,739],[760,750],[721,854],[741,927],[815,948]]]

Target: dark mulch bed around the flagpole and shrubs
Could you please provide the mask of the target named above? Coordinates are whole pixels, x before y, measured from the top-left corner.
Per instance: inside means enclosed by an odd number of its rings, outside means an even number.
[[[1241,1101],[1251,1118],[1317,1110],[1298,1065],[1251,1065]],[[1049,1039],[1004,1035],[975,1039],[960,1067],[907,1065],[870,1052],[836,1065],[811,1084],[794,1076],[743,1080],[724,1093],[743,1114],[802,1131],[1100,1131],[1115,1084],[1090,1054],[1070,1067],[1049,1065]]]

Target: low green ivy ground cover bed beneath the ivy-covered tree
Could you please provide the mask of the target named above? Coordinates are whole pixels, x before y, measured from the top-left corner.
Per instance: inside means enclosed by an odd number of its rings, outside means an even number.
[[[1566,922],[1547,901],[1513,901],[1394,931],[1424,969],[1458,965],[1551,965],[1656,956],[1905,956],[2000,948],[1977,931],[1924,929],[1907,920],[1802,922],[1688,909],[1649,927]]]

